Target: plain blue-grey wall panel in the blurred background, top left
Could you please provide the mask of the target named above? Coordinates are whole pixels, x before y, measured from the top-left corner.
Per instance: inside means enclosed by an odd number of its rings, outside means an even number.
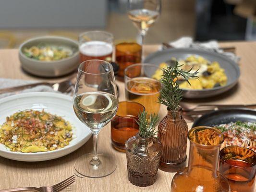
[[[0,28],[100,28],[107,9],[107,0],[0,0]]]

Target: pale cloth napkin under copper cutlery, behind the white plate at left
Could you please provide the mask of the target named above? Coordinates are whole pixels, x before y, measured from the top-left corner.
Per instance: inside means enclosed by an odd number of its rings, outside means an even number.
[[[37,81],[24,81],[24,80],[18,80],[18,79],[4,79],[0,78],[0,89],[7,88],[7,87],[13,87],[13,86],[19,86],[19,85],[25,85],[25,84],[33,84],[38,83]],[[33,88],[24,89],[22,91],[19,91],[18,93],[28,93],[28,92],[55,92],[60,93],[58,91],[54,91],[52,87],[47,85],[38,85]],[[9,92],[0,94],[0,98],[15,95],[17,92]]]

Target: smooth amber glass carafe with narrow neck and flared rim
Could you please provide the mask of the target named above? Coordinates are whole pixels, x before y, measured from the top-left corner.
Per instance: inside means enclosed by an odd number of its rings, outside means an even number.
[[[188,138],[188,167],[174,175],[171,192],[230,192],[228,180],[217,171],[223,134],[214,128],[195,127]]]

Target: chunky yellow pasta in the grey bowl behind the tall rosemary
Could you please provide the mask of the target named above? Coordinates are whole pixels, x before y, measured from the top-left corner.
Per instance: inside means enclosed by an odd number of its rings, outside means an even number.
[[[170,62],[176,61],[175,58],[171,58]],[[178,78],[178,82],[183,89],[211,89],[213,87],[224,86],[227,84],[227,75],[225,70],[220,67],[217,61],[210,62],[203,57],[191,55],[185,60],[178,60],[181,68],[184,71],[195,72],[198,70],[198,79],[189,79],[188,84],[182,77]],[[162,69],[167,68],[169,65],[167,62],[163,62],[159,65],[159,69],[155,72],[152,78],[161,79]]]

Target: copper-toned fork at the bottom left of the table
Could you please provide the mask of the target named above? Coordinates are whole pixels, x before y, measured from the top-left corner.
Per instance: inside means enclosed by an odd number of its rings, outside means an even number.
[[[47,187],[20,187],[20,188],[13,188],[13,189],[4,189],[0,190],[0,192],[28,192],[28,191],[35,191],[35,192],[60,192],[61,190],[65,189],[69,185],[71,185],[75,181],[75,176],[72,175],[70,178],[61,181],[60,183],[52,186]]]

